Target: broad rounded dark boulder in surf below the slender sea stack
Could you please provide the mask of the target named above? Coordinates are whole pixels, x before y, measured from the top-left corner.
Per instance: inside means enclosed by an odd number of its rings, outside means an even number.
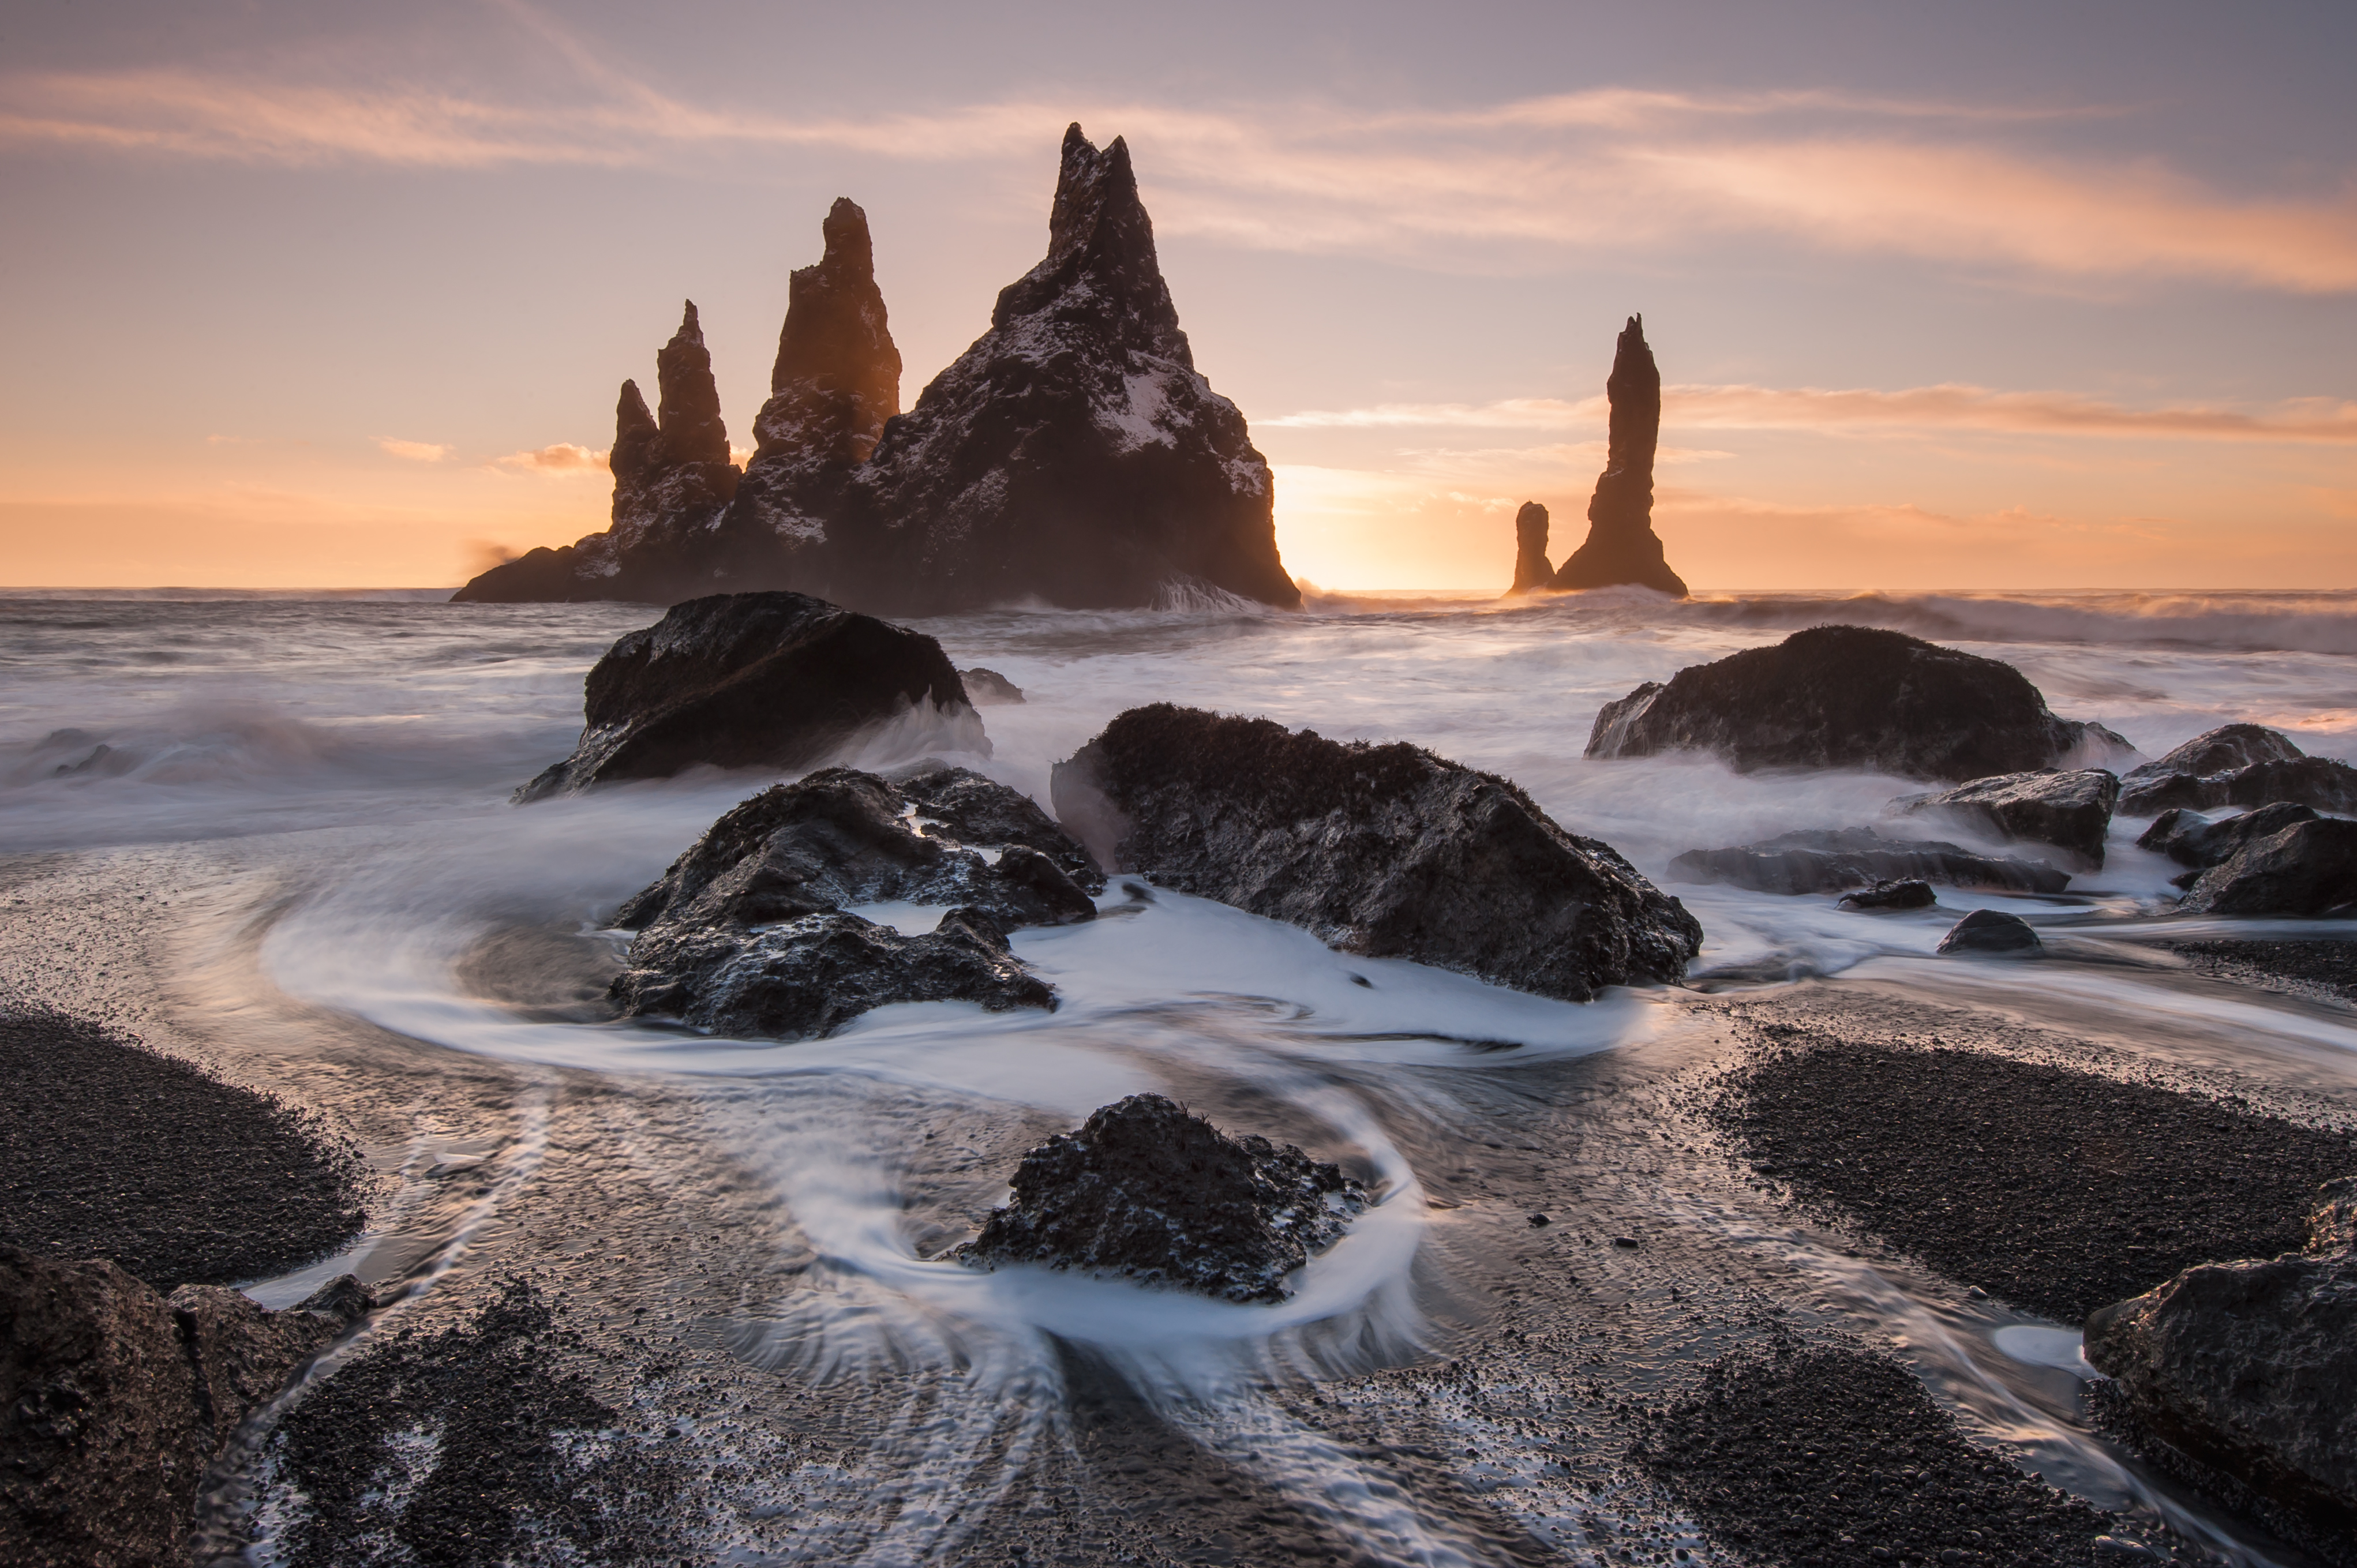
[[[1871,769],[1963,783],[2126,752],[2100,724],[2058,719],[2020,670],[1904,632],[1810,627],[1645,681],[1605,703],[1589,757],[1714,752],[1756,769]]]

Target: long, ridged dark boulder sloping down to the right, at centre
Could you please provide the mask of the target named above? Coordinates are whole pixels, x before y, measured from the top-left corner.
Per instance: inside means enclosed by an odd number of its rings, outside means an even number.
[[[1054,773],[1056,816],[1117,870],[1409,957],[1586,1002],[1678,981],[1702,927],[1610,844],[1414,745],[1131,707]]]

